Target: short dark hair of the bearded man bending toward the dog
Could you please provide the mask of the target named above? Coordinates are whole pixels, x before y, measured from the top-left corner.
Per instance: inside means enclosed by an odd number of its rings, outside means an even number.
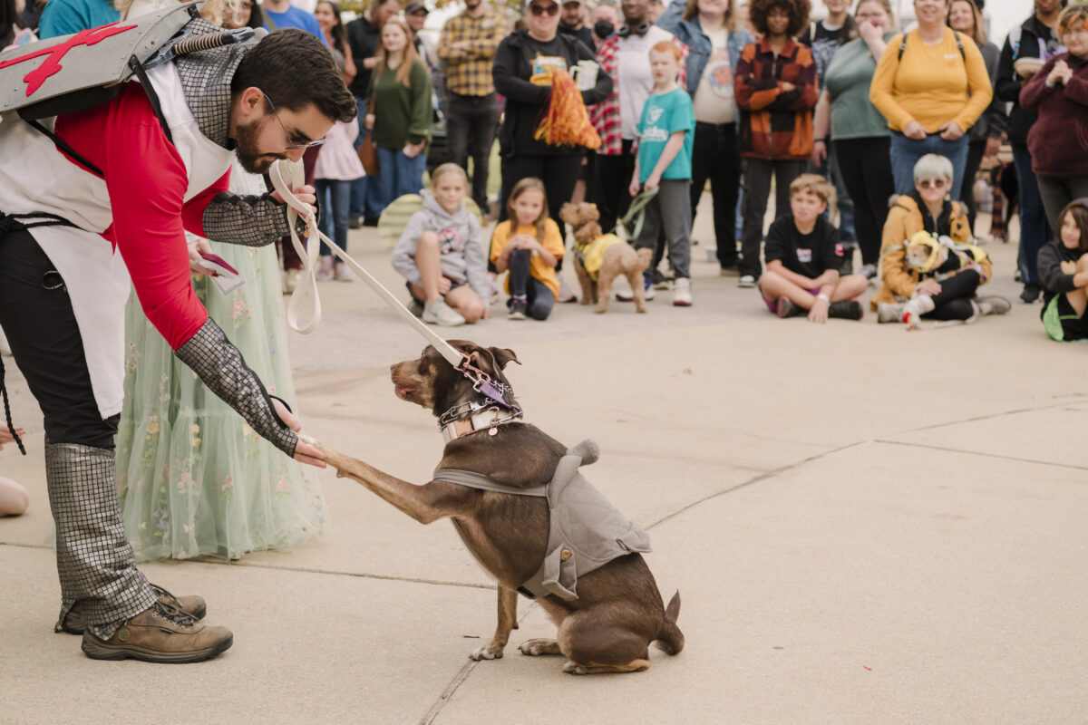
[[[257,87],[277,109],[296,113],[309,104],[333,121],[355,118],[355,97],[344,85],[332,53],[316,36],[287,28],[248,51],[231,80],[231,92]]]

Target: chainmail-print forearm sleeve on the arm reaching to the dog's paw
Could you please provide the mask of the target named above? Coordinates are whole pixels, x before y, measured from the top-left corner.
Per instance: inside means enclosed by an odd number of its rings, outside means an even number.
[[[260,379],[210,317],[196,335],[174,350],[174,354],[193,368],[212,392],[236,410],[258,435],[287,455],[295,455],[298,436],[275,414],[272,399]]]

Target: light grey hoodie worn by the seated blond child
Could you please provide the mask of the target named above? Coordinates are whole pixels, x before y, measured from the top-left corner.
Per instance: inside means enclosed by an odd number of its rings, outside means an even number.
[[[453,214],[424,190],[423,209],[411,215],[397,246],[393,248],[393,268],[413,285],[422,286],[416,250],[424,232],[438,235],[442,249],[442,275],[454,283],[468,283],[486,305],[491,297],[487,283],[487,254],[483,248],[483,232],[475,214],[465,209],[462,201]]]

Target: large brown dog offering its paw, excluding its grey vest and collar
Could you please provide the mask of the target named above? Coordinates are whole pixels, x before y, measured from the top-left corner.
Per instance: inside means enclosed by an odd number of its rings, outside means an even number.
[[[339,476],[349,476],[416,521],[430,524],[446,516],[477,561],[498,582],[498,626],[486,647],[471,653],[473,660],[503,657],[510,629],[517,627],[518,591],[541,568],[548,543],[548,500],[505,492],[532,489],[552,480],[565,447],[533,425],[515,418],[517,401],[503,374],[514,352],[482,348],[466,340],[450,340],[470,357],[473,373],[502,393],[504,411],[477,390],[479,384],[455,370],[433,347],[418,360],[393,365],[393,385],[401,400],[431,409],[448,423],[449,411],[499,410],[499,417],[483,427],[465,412],[448,426],[455,436],[445,448],[436,476],[443,470],[483,474],[499,490],[481,490],[434,479],[416,486],[394,478],[335,451],[322,449],[325,461]],[[485,390],[486,391],[486,390]],[[475,425],[477,430],[473,430]],[[639,529],[641,532],[641,529]],[[569,557],[569,552],[564,551]],[[566,559],[564,559],[566,561]],[[522,593],[527,593],[522,589]],[[648,646],[657,640],[663,650],[676,654],[683,648],[683,634],[676,625],[680,612],[679,592],[668,609],[662,602],[657,583],[640,553],[626,553],[577,580],[577,598],[555,595],[537,597],[541,607],[558,627],[557,638],[531,639],[520,646],[523,654],[562,654],[564,672],[586,675],[606,672],[636,672],[650,667]]]

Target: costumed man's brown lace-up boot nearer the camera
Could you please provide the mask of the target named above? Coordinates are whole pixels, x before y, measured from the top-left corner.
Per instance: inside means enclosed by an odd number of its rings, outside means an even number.
[[[92,660],[202,662],[230,649],[234,635],[226,627],[200,624],[161,599],[132,617],[107,640],[83,633],[83,651]]]

